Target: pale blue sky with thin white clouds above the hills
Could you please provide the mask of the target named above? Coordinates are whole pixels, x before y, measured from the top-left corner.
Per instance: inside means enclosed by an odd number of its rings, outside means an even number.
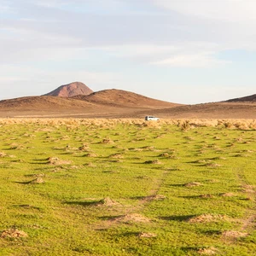
[[[167,102],[256,93],[255,0],[0,0],[0,100],[62,84]]]

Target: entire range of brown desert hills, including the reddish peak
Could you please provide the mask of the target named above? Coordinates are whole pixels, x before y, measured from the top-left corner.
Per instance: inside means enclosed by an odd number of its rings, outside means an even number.
[[[93,92],[87,89],[85,84],[76,82],[62,85],[49,93],[54,96],[3,100],[0,101],[0,117],[144,119],[146,115],[155,115],[160,119],[256,119],[256,95],[227,102],[183,105],[126,90]]]

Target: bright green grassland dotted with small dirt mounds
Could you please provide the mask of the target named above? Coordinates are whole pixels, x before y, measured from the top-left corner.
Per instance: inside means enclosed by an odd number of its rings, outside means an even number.
[[[0,120],[0,255],[256,255],[255,127]]]

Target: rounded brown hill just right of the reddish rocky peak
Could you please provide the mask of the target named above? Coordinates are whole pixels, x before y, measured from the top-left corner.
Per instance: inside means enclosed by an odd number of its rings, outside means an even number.
[[[119,108],[173,108],[181,105],[155,100],[127,90],[116,89],[100,90],[88,96],[73,96],[73,99]]]

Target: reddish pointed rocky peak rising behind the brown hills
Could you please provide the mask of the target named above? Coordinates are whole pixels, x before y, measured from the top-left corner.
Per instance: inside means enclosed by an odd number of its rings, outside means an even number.
[[[92,92],[93,90],[90,90],[85,84],[81,82],[73,82],[71,84],[61,85],[44,96],[72,97],[77,95],[90,95]]]

